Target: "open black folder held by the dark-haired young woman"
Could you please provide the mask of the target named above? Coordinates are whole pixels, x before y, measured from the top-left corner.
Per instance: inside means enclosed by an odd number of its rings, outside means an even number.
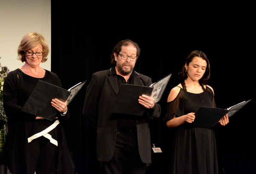
[[[228,117],[233,116],[238,110],[240,110],[245,104],[250,102],[241,102],[227,109],[219,109],[214,107],[200,107],[195,113],[195,120],[192,123],[185,123],[186,126],[209,128],[211,129],[218,123],[226,114]]]

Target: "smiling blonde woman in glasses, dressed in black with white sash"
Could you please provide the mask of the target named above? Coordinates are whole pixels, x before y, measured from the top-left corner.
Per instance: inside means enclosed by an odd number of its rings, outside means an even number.
[[[44,37],[30,32],[18,46],[18,60],[25,64],[9,73],[3,87],[3,103],[8,117],[8,134],[2,161],[13,174],[73,174],[61,120],[69,118],[67,102],[52,100],[58,110],[53,121],[22,112],[39,80],[62,87],[58,76],[44,70],[49,47]]]

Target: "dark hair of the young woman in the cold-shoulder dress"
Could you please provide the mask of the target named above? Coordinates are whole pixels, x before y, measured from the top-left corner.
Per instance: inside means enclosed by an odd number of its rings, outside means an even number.
[[[192,62],[194,57],[199,57],[206,61],[207,67],[206,67],[203,77],[199,80],[199,83],[200,84],[208,84],[209,78],[210,78],[210,63],[209,63],[207,56],[204,54],[204,52],[198,51],[198,50],[194,50],[194,51],[190,52],[189,55],[186,57],[183,67],[181,68],[180,73],[179,73],[180,80],[184,81],[186,78],[188,78],[185,65],[186,64],[189,65],[189,63]]]

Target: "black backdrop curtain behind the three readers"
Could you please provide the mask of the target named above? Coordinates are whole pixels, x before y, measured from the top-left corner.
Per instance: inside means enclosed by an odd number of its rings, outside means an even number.
[[[209,58],[209,85],[214,89],[217,107],[227,108],[254,98],[255,27],[250,4],[199,7],[195,3],[167,6],[158,2],[147,8],[116,8],[113,4],[71,3],[52,2],[51,71],[59,76],[65,89],[87,80],[69,106],[70,119],[63,123],[79,174],[94,174],[99,169],[95,131],[81,116],[86,87],[93,73],[112,67],[111,52],[120,40],[131,39],[139,44],[137,72],[153,82],[172,73],[159,102],[161,116],[150,122],[151,142],[163,153],[152,154],[147,174],[169,172],[175,130],[167,128],[162,118],[169,91],[179,83],[177,73],[189,52],[199,49]],[[220,174],[255,173],[254,107],[255,99],[232,116],[227,126],[215,128]]]

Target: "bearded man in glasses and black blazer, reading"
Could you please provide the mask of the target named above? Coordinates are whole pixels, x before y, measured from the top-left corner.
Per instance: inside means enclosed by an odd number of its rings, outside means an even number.
[[[145,174],[146,164],[151,162],[148,120],[161,112],[152,95],[138,98],[145,107],[143,116],[111,113],[121,84],[152,84],[151,78],[134,71],[139,56],[138,44],[120,41],[111,55],[114,67],[94,73],[87,87],[83,116],[97,129],[101,174]]]

